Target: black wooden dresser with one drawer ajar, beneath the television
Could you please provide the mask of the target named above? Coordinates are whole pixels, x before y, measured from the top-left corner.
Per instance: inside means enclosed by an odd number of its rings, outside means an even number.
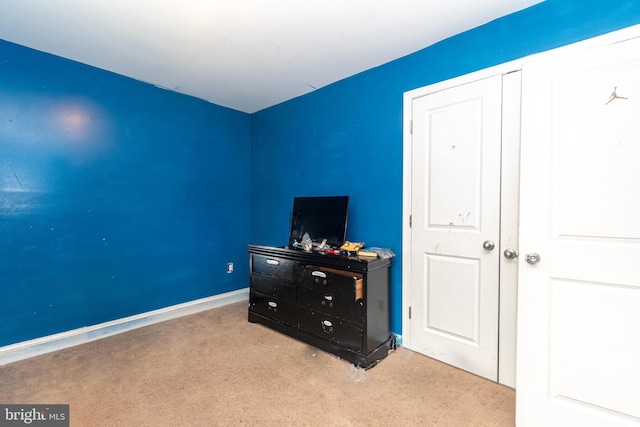
[[[249,245],[249,321],[356,366],[395,349],[389,322],[391,259]]]

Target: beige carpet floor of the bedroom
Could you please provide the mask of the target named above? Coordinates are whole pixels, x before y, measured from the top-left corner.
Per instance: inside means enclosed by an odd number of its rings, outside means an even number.
[[[402,347],[370,370],[237,303],[0,366],[0,403],[71,426],[513,426],[515,391]]]

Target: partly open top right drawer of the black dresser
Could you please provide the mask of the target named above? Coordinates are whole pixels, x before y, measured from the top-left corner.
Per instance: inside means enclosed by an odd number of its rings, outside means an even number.
[[[301,285],[349,301],[362,299],[364,292],[361,273],[315,265],[303,269]]]

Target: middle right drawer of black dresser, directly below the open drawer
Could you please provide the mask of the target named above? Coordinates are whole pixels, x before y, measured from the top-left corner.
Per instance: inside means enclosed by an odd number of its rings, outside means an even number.
[[[298,305],[342,317],[347,322],[363,323],[362,300],[340,298],[331,293],[330,289],[309,289],[300,286],[298,287]]]

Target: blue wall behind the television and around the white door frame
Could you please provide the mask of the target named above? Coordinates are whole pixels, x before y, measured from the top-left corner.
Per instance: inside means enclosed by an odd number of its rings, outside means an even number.
[[[286,243],[294,196],[350,195],[347,238],[398,255],[392,329],[401,333],[403,93],[637,23],[637,0],[547,0],[253,114],[253,242]]]

